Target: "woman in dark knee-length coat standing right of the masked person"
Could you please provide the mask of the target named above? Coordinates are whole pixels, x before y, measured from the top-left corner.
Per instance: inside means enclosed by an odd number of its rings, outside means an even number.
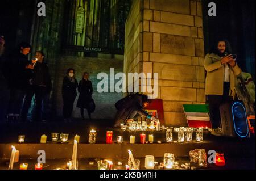
[[[80,108],[82,120],[84,120],[84,109],[87,109],[89,119],[91,118],[91,112],[89,103],[92,100],[93,87],[92,82],[89,81],[89,73],[85,72],[82,75],[82,80],[79,82],[79,99],[77,100],[77,107]]]

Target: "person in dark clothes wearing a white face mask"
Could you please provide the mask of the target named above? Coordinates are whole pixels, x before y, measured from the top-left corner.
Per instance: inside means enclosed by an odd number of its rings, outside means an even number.
[[[63,79],[62,97],[63,97],[63,117],[64,121],[71,121],[73,104],[75,102],[78,87],[77,79],[75,78],[75,70],[70,68],[67,70],[67,75]]]

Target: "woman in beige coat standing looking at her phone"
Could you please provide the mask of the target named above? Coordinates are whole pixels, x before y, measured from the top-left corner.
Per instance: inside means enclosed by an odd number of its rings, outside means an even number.
[[[226,40],[217,41],[215,47],[205,56],[204,68],[207,71],[205,94],[208,98],[212,134],[214,134],[221,131],[218,129],[221,128],[219,107],[226,100],[234,99],[235,77],[241,73],[241,69]]]

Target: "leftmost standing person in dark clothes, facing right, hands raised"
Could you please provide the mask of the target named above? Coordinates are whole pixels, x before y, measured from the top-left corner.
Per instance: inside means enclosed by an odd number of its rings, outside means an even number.
[[[8,120],[18,120],[22,107],[23,98],[27,85],[26,69],[33,69],[31,61],[27,55],[30,53],[31,46],[28,43],[19,45],[19,52],[11,56],[7,62],[6,79],[10,89],[10,100],[8,106]]]

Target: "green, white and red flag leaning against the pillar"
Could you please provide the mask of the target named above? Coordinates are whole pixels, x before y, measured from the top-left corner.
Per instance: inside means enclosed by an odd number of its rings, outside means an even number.
[[[193,128],[212,128],[208,104],[183,104],[188,126]]]

